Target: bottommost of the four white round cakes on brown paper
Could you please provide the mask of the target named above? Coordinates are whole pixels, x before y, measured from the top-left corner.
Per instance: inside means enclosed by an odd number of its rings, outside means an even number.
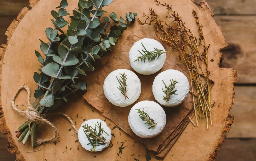
[[[151,127],[145,124],[145,122],[139,118],[138,110],[144,110],[151,119],[157,123],[156,127]],[[130,110],[128,116],[128,122],[131,130],[141,138],[153,138],[161,133],[166,124],[166,115],[163,108],[153,101],[141,101],[136,103]]]

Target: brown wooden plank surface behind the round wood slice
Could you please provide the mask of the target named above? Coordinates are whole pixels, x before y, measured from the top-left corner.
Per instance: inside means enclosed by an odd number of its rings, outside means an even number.
[[[201,0],[195,0],[199,3]],[[222,27],[228,47],[222,50],[224,67],[237,70],[235,103],[230,114],[234,122],[216,160],[256,159],[256,1],[206,0],[216,23]],[[28,0],[0,0],[0,44],[6,43],[5,31]],[[15,160],[0,134],[0,160]]]

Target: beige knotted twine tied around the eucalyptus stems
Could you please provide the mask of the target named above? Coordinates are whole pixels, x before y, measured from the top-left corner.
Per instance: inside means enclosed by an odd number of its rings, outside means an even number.
[[[26,90],[27,91],[27,110],[26,111],[22,111],[22,110],[19,110],[18,108],[16,108],[15,106],[15,98],[18,96],[19,92],[21,90]],[[33,108],[33,106],[31,105],[30,103],[30,89],[29,87],[27,86],[22,86],[21,88],[18,89],[18,91],[16,92],[16,94],[13,96],[13,99],[11,100],[11,105],[13,106],[13,109],[15,111],[17,111],[18,113],[21,113],[21,114],[24,114],[26,115],[27,119],[29,120],[29,123],[31,122],[35,122],[37,124],[39,123],[44,123],[44,124],[47,124],[49,125],[51,128],[53,128],[54,130],[54,136],[52,136],[51,138],[48,138],[48,139],[37,139],[37,144],[40,145],[42,143],[45,143],[45,142],[49,142],[53,139],[55,139],[57,137],[57,128],[47,119],[43,118],[35,108]],[[62,116],[64,116],[65,118],[67,118],[67,120],[69,120],[71,126],[73,127],[73,129],[75,130],[76,133],[78,133],[78,130],[75,128],[75,125],[72,121],[72,119],[67,116],[66,114],[62,113],[62,112],[55,112],[53,114],[60,114]],[[53,114],[50,114],[50,115],[53,115]],[[30,127],[29,127],[30,129]]]

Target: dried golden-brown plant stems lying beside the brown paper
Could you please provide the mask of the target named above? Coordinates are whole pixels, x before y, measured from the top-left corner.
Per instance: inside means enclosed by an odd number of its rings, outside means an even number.
[[[195,111],[196,124],[198,126],[198,119],[206,117],[206,125],[208,128],[209,119],[211,119],[212,102],[210,100],[211,84],[214,82],[209,79],[210,71],[208,70],[208,49],[210,45],[206,45],[205,38],[202,31],[202,25],[199,23],[197,13],[193,10],[192,14],[198,25],[199,39],[193,35],[193,31],[185,26],[185,22],[179,14],[172,10],[168,4],[162,4],[160,1],[155,0],[157,5],[166,7],[168,15],[166,17],[173,19],[174,24],[169,24],[164,21],[154,10],[149,10],[149,15],[144,13],[146,17],[142,25],[154,25],[156,28],[155,35],[157,38],[169,43],[174,50],[180,53],[187,71],[190,75],[191,93],[193,96],[193,105]],[[203,48],[203,52],[199,51]],[[195,99],[197,97],[197,99]],[[193,125],[195,123],[189,117]]]

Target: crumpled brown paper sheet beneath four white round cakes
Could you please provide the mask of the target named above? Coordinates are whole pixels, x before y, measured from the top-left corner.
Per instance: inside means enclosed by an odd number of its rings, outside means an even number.
[[[141,75],[136,73],[129,63],[129,50],[131,46],[142,38],[156,39],[152,34],[154,32],[153,26],[138,26],[134,28],[133,32],[127,37],[125,41],[119,46],[118,52],[114,53],[109,61],[105,64],[102,71],[99,73],[95,81],[87,88],[87,92],[83,97],[89,104],[95,107],[101,114],[111,119],[118,127],[120,127],[127,134],[145,144],[149,150],[155,151],[156,155],[164,158],[175,141],[181,135],[188,122],[188,115],[193,115],[192,95],[189,94],[185,101],[177,107],[163,107],[166,113],[166,126],[163,131],[154,138],[140,138],[133,133],[128,124],[128,115],[131,107],[139,101],[151,100],[155,101],[152,93],[152,84],[154,78],[167,69],[175,69],[181,71],[189,79],[189,75],[182,70],[177,62],[179,57],[174,53],[168,44],[162,43],[166,51],[166,61],[160,71],[152,75]],[[128,107],[117,107],[111,104],[104,95],[103,82],[107,75],[116,69],[128,69],[134,71],[141,80],[141,95],[139,99]],[[95,94],[97,97],[95,97]]]

